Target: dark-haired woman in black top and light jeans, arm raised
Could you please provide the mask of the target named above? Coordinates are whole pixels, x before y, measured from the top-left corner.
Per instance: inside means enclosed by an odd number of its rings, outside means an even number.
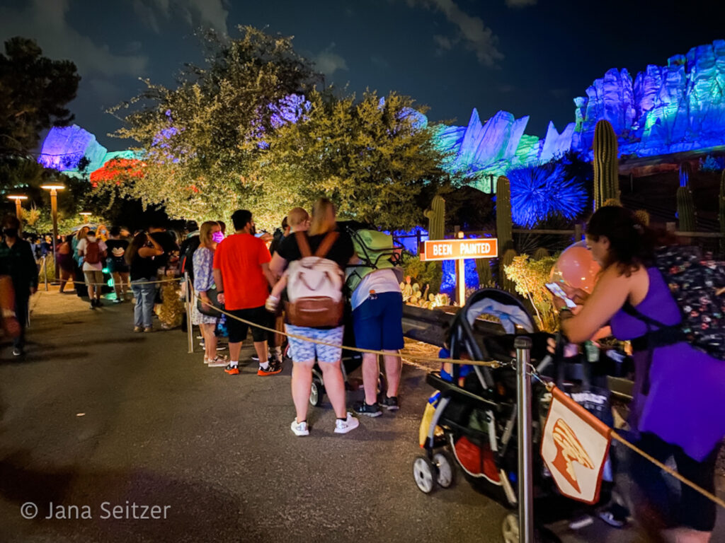
[[[133,332],[153,332],[152,316],[158,287],[159,265],[154,257],[164,254],[161,245],[146,232],[133,237],[126,251],[126,263],[130,267],[131,290],[136,297],[133,308]]]

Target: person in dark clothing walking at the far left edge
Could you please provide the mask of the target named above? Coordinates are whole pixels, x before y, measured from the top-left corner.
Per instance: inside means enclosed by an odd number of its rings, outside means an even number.
[[[15,314],[20,323],[20,334],[13,339],[12,354],[20,356],[25,348],[25,326],[28,324],[28,301],[38,290],[38,266],[30,243],[20,237],[20,221],[7,215],[2,223],[3,243],[0,259],[5,261],[15,290]]]

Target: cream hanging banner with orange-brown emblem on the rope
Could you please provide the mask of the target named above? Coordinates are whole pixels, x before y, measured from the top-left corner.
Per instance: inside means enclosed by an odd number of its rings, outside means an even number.
[[[552,389],[541,454],[562,494],[589,504],[599,500],[611,432],[564,392]]]

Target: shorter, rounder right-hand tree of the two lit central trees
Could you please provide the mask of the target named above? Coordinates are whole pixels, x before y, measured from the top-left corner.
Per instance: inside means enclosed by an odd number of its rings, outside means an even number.
[[[431,130],[413,99],[366,92],[334,96],[313,90],[297,122],[285,122],[257,142],[253,183],[279,189],[267,202],[309,205],[331,198],[339,214],[386,228],[420,224],[431,191],[450,185]]]

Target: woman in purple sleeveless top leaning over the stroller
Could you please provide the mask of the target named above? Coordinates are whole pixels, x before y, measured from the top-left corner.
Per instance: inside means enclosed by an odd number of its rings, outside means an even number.
[[[602,271],[591,295],[568,290],[583,306],[576,315],[554,298],[563,333],[571,342],[584,342],[609,323],[618,340],[631,340],[636,377],[630,425],[637,445],[661,462],[674,458],[682,476],[714,494],[725,437],[725,361],[679,335],[683,313],[655,266],[655,236],[630,211],[599,209],[587,225],[587,245]],[[682,485],[673,507],[666,475],[657,466],[633,455],[630,467],[644,494],[634,503],[645,526],[660,531],[666,542],[710,540],[716,519],[711,500]]]

